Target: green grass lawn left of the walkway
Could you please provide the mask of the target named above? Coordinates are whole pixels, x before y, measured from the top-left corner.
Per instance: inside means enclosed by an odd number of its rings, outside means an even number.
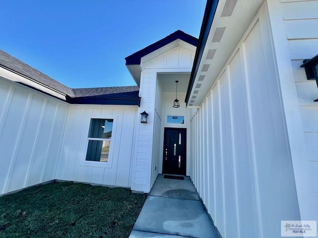
[[[127,238],[145,200],[126,188],[34,186],[0,197],[0,238]]]

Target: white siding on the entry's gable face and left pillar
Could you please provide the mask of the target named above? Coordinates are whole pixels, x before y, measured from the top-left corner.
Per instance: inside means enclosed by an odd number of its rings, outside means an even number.
[[[131,189],[136,191],[150,191],[159,173],[159,164],[162,163],[162,155],[160,155],[163,140],[162,101],[160,101],[162,89],[158,82],[158,74],[191,72],[192,69],[195,47],[183,42],[182,44],[190,50],[179,46],[171,49],[170,44],[157,50],[162,52],[159,56],[151,59],[152,54],[158,54],[155,51],[141,60],[143,70],[139,87],[141,103],[138,113],[146,111],[149,117],[148,123],[139,123],[138,128],[136,128],[135,141],[137,145],[131,184]],[[146,62],[144,62],[145,59]]]

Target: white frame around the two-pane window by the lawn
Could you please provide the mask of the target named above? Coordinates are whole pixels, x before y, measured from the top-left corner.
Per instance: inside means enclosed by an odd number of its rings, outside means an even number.
[[[89,136],[89,127],[90,127],[90,121],[91,119],[112,119],[113,120],[113,127],[112,127],[112,135],[111,139],[108,138],[93,138],[93,137],[88,137]],[[97,167],[106,167],[106,168],[111,168],[112,167],[112,162],[113,162],[113,151],[114,151],[114,142],[115,142],[115,129],[117,126],[117,118],[116,117],[90,117],[87,119],[87,129],[86,129],[86,143],[85,143],[85,153],[83,155],[83,164],[84,165],[90,165],[90,166],[97,166]],[[86,155],[87,155],[87,150],[88,150],[88,143],[90,140],[97,140],[97,141],[110,141],[109,142],[109,152],[108,152],[108,161],[103,162],[103,161],[91,161],[91,160],[86,160]]]

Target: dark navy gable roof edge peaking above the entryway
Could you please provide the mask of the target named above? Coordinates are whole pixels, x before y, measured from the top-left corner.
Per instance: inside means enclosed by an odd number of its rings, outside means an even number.
[[[167,44],[169,44],[177,39],[180,39],[184,42],[187,42],[195,47],[198,44],[197,38],[190,36],[190,35],[184,33],[183,31],[177,30],[177,31],[173,32],[172,34],[164,37],[163,39],[155,42],[154,44],[147,46],[146,48],[126,57],[125,58],[126,65],[140,64],[141,58],[149,55],[150,53],[160,49],[161,47],[163,47],[163,46],[165,46],[165,45],[167,45]]]

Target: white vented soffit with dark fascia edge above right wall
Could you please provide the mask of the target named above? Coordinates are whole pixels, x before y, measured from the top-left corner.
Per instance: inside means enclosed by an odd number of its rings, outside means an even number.
[[[187,107],[200,107],[262,3],[208,1],[185,100]]]

